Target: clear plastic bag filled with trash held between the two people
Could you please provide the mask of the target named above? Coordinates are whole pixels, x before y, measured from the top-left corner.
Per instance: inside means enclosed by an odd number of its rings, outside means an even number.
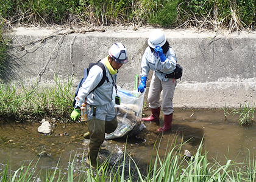
[[[113,94],[113,98],[115,98],[115,96],[116,93]],[[133,133],[133,135],[135,135],[140,132],[140,130],[144,129],[144,127],[146,127],[141,122],[144,93],[140,93],[137,90],[130,91],[118,87],[118,96],[121,100],[119,105],[115,105],[118,126],[114,132],[109,134],[106,133],[106,140],[121,138],[128,135],[129,133]],[[131,132],[135,129],[135,132]]]

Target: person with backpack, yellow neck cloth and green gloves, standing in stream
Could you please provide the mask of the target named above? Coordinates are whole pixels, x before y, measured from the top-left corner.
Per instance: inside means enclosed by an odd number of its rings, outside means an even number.
[[[99,66],[91,67],[87,79],[77,93],[76,104],[71,113],[71,119],[76,121],[80,116],[80,107],[86,98],[87,125],[90,133],[89,152],[86,161],[93,167],[97,166],[96,159],[105,140],[105,133],[115,131],[118,125],[112,93],[116,91],[118,70],[127,63],[126,47],[120,42],[113,44],[108,50],[108,56],[100,62],[105,66],[107,79],[100,87],[93,90],[101,81],[103,70]]]

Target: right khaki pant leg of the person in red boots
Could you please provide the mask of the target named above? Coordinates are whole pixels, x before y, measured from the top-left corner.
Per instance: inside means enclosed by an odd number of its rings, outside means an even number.
[[[163,87],[163,101],[162,101],[162,112],[164,115],[169,115],[174,112],[172,106],[172,99],[174,90],[177,85],[177,80],[169,78],[168,81],[161,81]]]

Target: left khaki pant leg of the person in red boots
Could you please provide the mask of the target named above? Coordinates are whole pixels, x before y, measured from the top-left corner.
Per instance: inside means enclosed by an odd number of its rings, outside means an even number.
[[[149,86],[148,102],[151,109],[157,109],[160,107],[160,93],[162,91],[162,84],[160,79],[155,75],[152,75],[151,83]]]

